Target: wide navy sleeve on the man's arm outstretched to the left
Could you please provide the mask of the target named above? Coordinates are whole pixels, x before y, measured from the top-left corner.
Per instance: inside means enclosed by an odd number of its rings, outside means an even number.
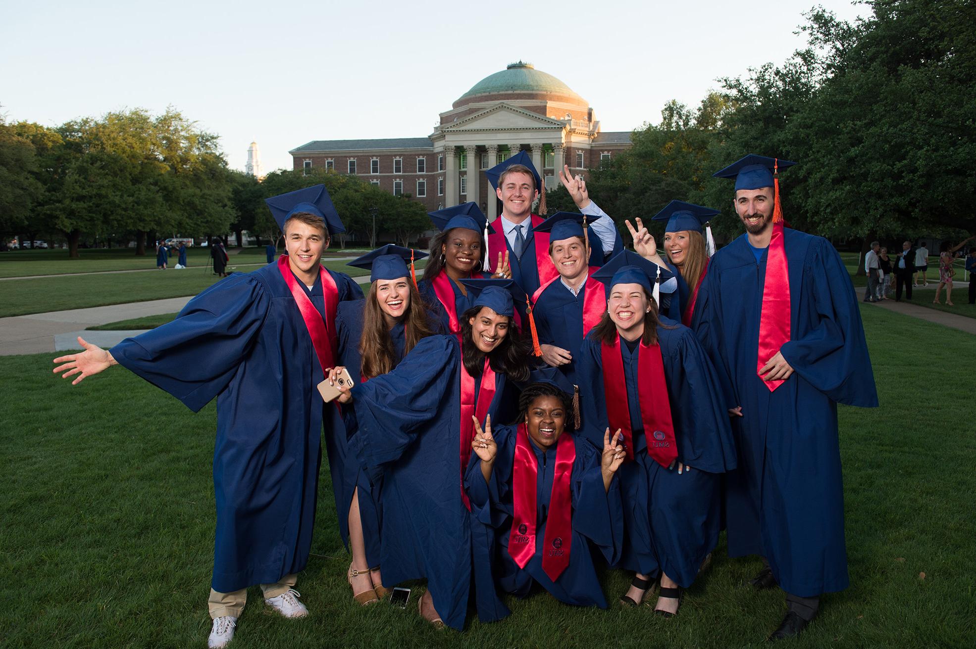
[[[173,322],[126,338],[109,353],[197,412],[248,357],[270,305],[260,280],[235,274],[191,299]]]

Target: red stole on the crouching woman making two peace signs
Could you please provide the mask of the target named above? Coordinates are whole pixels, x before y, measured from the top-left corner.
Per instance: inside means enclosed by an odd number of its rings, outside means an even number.
[[[543,451],[545,452],[545,450]],[[573,545],[573,507],[570,477],[576,461],[576,444],[566,433],[556,441],[555,470],[549,496],[549,515],[543,538],[543,570],[553,582],[569,565]],[[529,443],[525,424],[515,432],[515,458],[511,470],[514,517],[508,534],[508,554],[524,568],[536,554],[537,485],[539,463]]]

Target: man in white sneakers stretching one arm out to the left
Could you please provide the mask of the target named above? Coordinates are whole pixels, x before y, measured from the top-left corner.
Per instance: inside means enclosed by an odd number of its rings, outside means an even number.
[[[285,617],[308,614],[292,587],[311,547],[320,431],[343,430],[315,386],[334,364],[337,304],[362,297],[319,264],[330,234],[345,231],[324,185],[266,202],[285,233],[276,264],[234,274],[110,350],[79,338],[83,353],[55,359],[75,384],[124,365],[194,412],[217,397],[210,647],[233,637],[250,586]]]

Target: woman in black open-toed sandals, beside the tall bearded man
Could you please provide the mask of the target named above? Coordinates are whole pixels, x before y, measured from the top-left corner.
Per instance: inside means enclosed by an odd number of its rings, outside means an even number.
[[[677,612],[681,588],[718,541],[719,474],[735,468],[728,415],[712,364],[691,329],[662,325],[657,267],[625,251],[594,277],[607,283],[607,314],[580,353],[584,430],[590,441],[621,429],[624,548],[636,573],[624,604],[638,604],[660,573],[655,610]],[[662,271],[664,277],[664,271]],[[694,469],[692,469],[694,467]]]

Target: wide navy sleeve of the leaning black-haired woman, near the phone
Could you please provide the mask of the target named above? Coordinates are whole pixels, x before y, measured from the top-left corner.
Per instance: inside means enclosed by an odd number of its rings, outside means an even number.
[[[352,388],[359,430],[349,443],[364,468],[397,460],[452,395],[460,349],[453,336],[427,336],[392,371]]]

